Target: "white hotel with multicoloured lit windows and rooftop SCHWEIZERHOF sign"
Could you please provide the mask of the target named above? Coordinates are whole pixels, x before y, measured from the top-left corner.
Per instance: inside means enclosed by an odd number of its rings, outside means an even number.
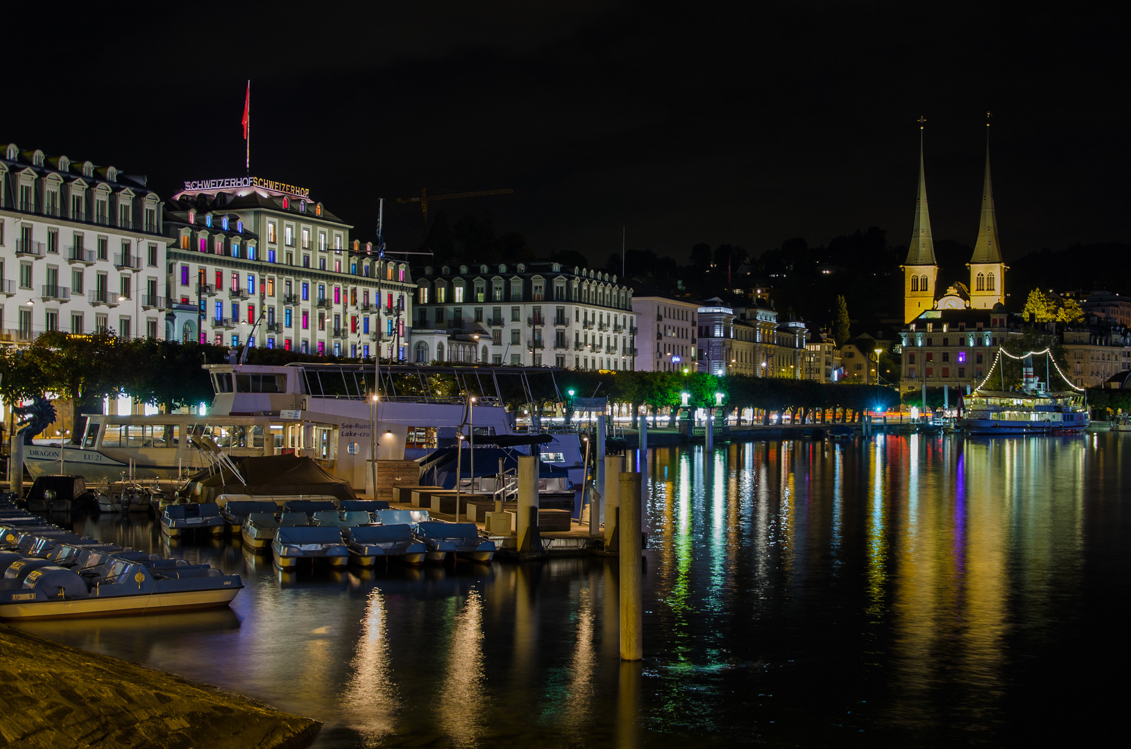
[[[351,239],[353,227],[309,190],[258,177],[185,182],[165,215],[178,339],[407,357],[408,263]]]

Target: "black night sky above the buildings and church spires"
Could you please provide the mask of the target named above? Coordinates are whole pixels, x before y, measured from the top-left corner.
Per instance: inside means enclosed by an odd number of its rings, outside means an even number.
[[[143,172],[169,195],[243,174],[250,78],[252,174],[310,188],[359,238],[380,197],[512,188],[433,209],[486,209],[539,252],[601,263],[622,224],[629,246],[680,259],[871,225],[906,244],[921,114],[934,235],[973,245],[991,110],[1007,260],[1131,241],[1125,40],[1082,5],[473,5],[44,20],[21,32],[21,73],[9,55],[0,140]],[[387,201],[387,226],[409,249],[418,209]]]

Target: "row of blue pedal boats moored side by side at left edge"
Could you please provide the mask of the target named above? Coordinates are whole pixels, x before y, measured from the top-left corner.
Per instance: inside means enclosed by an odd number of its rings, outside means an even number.
[[[102,543],[0,500],[0,619],[221,607],[243,587],[210,565]]]

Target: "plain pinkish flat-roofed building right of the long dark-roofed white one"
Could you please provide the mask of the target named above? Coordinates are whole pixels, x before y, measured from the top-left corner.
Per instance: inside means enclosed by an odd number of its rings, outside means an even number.
[[[699,302],[632,284],[632,312],[637,315],[637,369],[682,372],[697,369]],[[650,354],[648,354],[650,351]]]

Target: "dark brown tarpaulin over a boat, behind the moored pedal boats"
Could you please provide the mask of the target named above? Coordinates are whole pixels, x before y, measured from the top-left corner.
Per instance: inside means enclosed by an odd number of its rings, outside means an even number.
[[[327,494],[338,499],[357,498],[347,481],[334,478],[304,455],[251,455],[234,459],[234,462],[245,484],[227,469],[214,474],[201,471],[191,479],[200,484],[200,502],[213,502],[225,491],[252,496]]]

